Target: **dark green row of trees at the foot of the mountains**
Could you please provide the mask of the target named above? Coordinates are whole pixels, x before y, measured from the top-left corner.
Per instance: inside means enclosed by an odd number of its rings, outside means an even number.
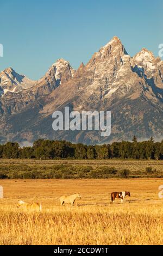
[[[67,141],[38,139],[33,147],[20,148],[18,143],[8,142],[0,145],[0,158],[8,159],[163,159],[163,140],[154,142],[122,141],[104,145],[73,144]]]

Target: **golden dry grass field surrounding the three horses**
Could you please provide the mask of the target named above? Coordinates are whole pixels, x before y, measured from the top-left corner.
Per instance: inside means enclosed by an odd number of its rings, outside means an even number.
[[[163,179],[0,180],[1,245],[163,245]],[[112,191],[130,191],[123,204]],[[80,193],[72,208],[64,194]],[[17,209],[39,202],[42,212]]]

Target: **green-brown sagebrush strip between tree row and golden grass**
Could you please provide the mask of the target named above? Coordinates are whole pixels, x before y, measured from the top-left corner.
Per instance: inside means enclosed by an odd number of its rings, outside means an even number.
[[[1,159],[0,179],[163,178],[162,160]]]

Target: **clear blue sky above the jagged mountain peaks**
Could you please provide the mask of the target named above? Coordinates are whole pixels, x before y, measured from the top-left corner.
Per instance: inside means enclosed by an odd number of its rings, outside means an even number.
[[[162,0],[0,0],[0,44],[9,66],[36,80],[58,58],[77,69],[117,35],[133,56],[163,43]]]

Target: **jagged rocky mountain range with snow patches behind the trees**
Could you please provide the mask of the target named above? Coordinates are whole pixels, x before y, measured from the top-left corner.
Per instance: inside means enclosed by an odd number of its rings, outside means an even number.
[[[59,59],[39,81],[11,68],[0,73],[0,139],[67,139],[87,144],[153,136],[163,127],[163,62],[143,48],[134,57],[116,36],[77,71]],[[111,135],[99,131],[53,131],[52,113],[111,111]]]

